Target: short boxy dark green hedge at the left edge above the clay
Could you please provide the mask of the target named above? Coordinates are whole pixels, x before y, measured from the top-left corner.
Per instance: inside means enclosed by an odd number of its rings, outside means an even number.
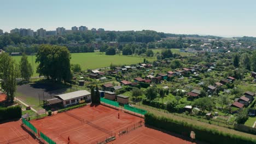
[[[0,108],[0,121],[21,118],[22,111],[19,105]]]

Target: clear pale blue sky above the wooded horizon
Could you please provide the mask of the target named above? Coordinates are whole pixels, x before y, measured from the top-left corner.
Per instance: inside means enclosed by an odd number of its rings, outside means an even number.
[[[72,26],[256,37],[255,0],[0,0],[0,29]]]

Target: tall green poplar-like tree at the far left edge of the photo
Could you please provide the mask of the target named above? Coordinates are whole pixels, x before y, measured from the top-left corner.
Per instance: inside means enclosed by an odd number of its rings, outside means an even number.
[[[2,53],[0,55],[0,79],[1,88],[7,94],[7,101],[13,103],[14,93],[16,91],[16,79],[19,76],[19,65],[8,55]]]

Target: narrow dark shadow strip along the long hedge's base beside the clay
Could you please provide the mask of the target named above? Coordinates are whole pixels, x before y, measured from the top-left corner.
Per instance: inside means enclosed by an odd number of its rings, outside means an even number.
[[[164,130],[164,129],[156,128],[156,127],[153,127],[151,125],[145,124],[145,127],[161,131],[162,133],[166,133],[168,135],[172,135],[172,136],[178,137],[179,139],[182,139],[182,140],[190,141],[190,142],[193,142],[193,143],[199,143],[199,144],[207,144],[207,142],[202,142],[202,141],[194,140],[194,139],[191,139],[190,137],[187,137],[187,136],[184,136],[184,135],[179,135],[179,134],[176,134],[176,133],[173,133],[171,131]],[[195,137],[196,137],[196,135],[195,135]]]

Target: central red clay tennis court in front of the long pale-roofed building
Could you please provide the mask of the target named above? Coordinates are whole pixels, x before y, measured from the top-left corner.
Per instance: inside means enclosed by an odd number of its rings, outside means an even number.
[[[74,118],[68,113],[79,118]],[[58,113],[55,116],[30,122],[56,143],[67,143],[68,136],[71,143],[97,143],[110,135],[118,137],[119,131],[133,125],[137,126],[144,120],[103,105],[87,105],[70,110],[68,113]]]

